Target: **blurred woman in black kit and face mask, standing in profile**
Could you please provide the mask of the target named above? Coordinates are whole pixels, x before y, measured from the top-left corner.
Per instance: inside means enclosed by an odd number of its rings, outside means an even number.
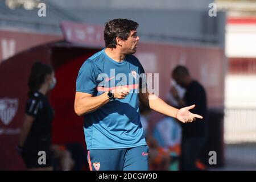
[[[47,93],[53,89],[56,78],[48,64],[32,65],[28,78],[28,100],[19,139],[19,151],[28,170],[52,170],[51,129],[53,109]]]

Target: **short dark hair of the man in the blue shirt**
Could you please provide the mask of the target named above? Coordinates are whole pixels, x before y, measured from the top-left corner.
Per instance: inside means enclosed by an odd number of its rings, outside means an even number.
[[[122,40],[127,40],[130,31],[136,30],[139,24],[130,19],[113,19],[105,24],[104,40],[106,48],[116,48],[117,41],[115,38],[119,37]]]

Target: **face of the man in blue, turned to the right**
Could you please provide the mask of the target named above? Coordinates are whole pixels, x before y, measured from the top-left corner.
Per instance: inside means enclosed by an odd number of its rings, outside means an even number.
[[[125,54],[133,54],[136,52],[139,36],[137,36],[137,30],[130,31],[130,35],[127,40],[122,41],[122,52]]]

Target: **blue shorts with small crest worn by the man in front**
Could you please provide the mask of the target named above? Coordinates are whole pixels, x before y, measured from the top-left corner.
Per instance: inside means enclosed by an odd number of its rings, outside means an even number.
[[[90,171],[147,171],[148,146],[88,150]]]

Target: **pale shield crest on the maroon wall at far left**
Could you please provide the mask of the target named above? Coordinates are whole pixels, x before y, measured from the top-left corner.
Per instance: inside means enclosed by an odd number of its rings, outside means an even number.
[[[17,110],[18,110],[19,100],[2,98],[0,99],[0,119],[5,125],[13,120]]]

